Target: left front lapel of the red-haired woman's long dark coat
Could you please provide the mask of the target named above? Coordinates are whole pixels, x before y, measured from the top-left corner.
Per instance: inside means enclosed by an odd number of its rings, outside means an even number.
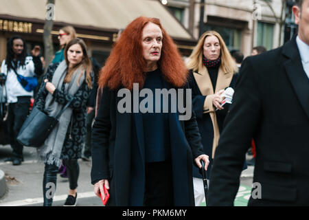
[[[116,98],[116,103],[121,98]],[[117,104],[115,104],[117,107]],[[132,105],[133,107],[133,102]],[[117,111],[117,109],[115,109]],[[131,109],[132,111],[133,109]],[[144,131],[141,113],[117,112],[115,155],[119,162],[114,164],[115,199],[119,206],[135,206],[143,203],[144,199]],[[135,128],[135,131],[133,130]],[[137,138],[135,138],[137,137]],[[134,146],[133,142],[137,142]],[[131,159],[133,158],[133,161]],[[135,170],[134,175],[131,173]],[[137,170],[138,169],[138,170]],[[130,184],[124,184],[127,181]],[[140,184],[140,185],[139,185]],[[140,193],[141,192],[141,193]],[[133,195],[132,195],[133,193]]]

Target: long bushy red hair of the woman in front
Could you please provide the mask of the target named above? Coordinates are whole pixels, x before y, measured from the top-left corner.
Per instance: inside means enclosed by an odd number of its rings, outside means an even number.
[[[98,85],[117,89],[133,89],[133,83],[144,87],[146,61],[142,51],[142,31],[147,23],[155,23],[163,34],[161,58],[158,66],[165,80],[174,87],[181,87],[187,81],[188,71],[181,59],[174,41],[162,28],[159,19],[138,17],[122,32],[119,41],[113,47],[105,66],[100,71]]]

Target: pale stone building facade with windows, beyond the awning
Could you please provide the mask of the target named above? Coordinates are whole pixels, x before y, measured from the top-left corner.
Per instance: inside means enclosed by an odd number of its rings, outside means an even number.
[[[192,23],[196,39],[207,30],[216,30],[229,50],[240,50],[245,56],[255,46],[271,50],[290,38],[295,31],[291,5],[293,1],[285,0],[168,0],[167,3],[186,28]],[[288,25],[282,23],[286,17],[290,17]]]

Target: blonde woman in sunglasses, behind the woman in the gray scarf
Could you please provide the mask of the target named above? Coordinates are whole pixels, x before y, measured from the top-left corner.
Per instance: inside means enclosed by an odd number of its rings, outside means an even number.
[[[65,26],[59,30],[58,40],[60,43],[60,50],[56,52],[52,63],[59,63],[65,59],[65,56],[63,54],[65,46],[67,45],[67,43],[69,43],[69,41],[71,41],[71,39],[75,38],[76,38],[76,30],[72,26],[70,25]]]

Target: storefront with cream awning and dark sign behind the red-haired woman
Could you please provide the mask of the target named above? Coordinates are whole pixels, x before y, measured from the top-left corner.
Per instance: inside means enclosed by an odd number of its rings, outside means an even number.
[[[6,55],[10,37],[20,35],[30,52],[34,45],[43,47],[45,19],[52,14],[54,52],[59,49],[60,28],[72,25],[85,41],[89,56],[102,65],[109,56],[119,29],[140,16],[160,19],[182,54],[190,54],[196,39],[159,0],[56,0],[52,9],[47,0],[0,0],[0,60]],[[42,53],[42,55],[44,52]]]

